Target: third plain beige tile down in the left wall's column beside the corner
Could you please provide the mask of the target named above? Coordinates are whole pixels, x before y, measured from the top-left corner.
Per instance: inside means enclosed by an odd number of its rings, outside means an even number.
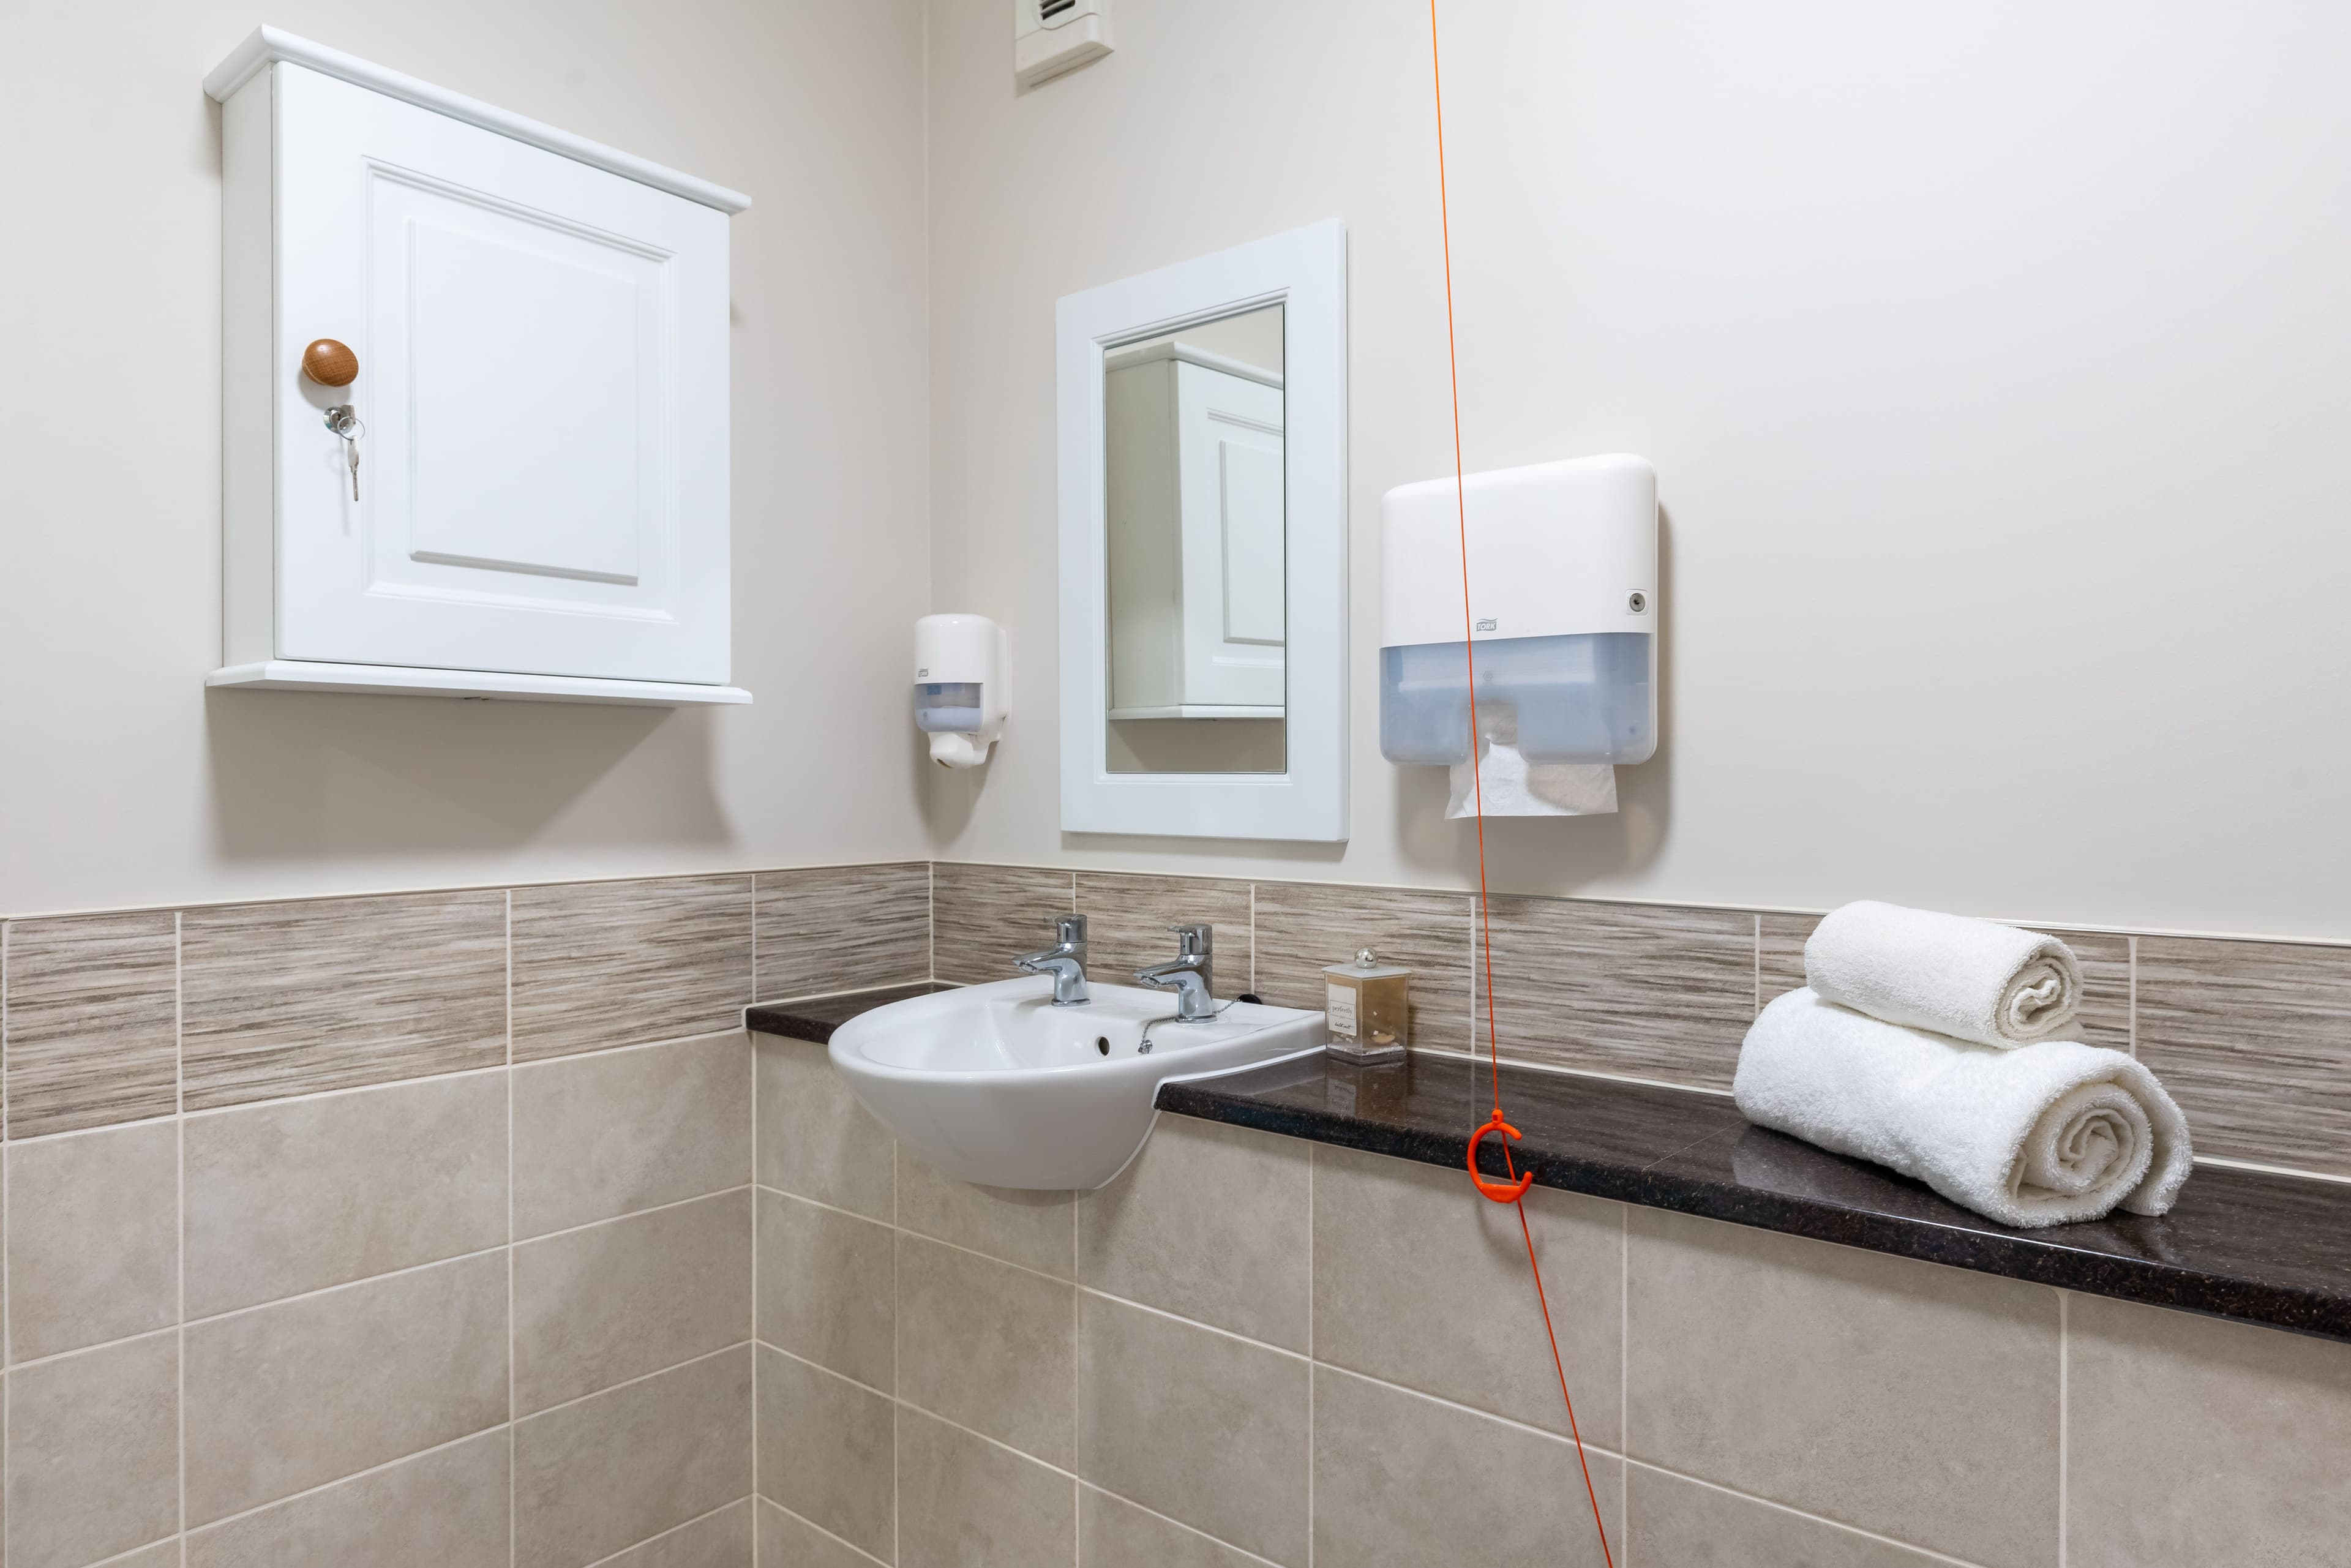
[[[578,1568],[750,1495],[750,1345],[515,1422],[515,1568]]]

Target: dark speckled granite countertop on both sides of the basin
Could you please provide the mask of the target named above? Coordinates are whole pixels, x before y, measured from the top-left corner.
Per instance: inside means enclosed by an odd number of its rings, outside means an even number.
[[[938,990],[950,987],[762,1001],[743,1023],[825,1044],[868,1009]],[[1723,1095],[1502,1067],[1502,1105],[1523,1133],[1519,1168],[1542,1187],[2351,1340],[2344,1182],[2196,1166],[2161,1220],[2010,1229],[1893,1171],[1749,1126]],[[1314,1058],[1166,1084],[1159,1110],[1458,1171],[1493,1098],[1486,1067],[1465,1058]],[[1502,1175],[1493,1138],[1481,1168]]]

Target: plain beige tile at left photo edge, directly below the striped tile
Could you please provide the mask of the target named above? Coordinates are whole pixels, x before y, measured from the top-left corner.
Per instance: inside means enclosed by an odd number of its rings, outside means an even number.
[[[7,1145],[9,1359],[179,1321],[179,1126]]]

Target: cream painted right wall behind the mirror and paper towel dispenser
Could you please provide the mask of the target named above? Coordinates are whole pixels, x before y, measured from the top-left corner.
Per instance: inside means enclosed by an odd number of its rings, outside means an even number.
[[[1657,463],[1665,750],[1507,889],[2351,936],[2351,12],[1446,5],[1472,468]],[[1451,470],[1427,9],[1119,0],[1016,96],[931,5],[933,607],[1011,630],[945,856],[1460,886],[1378,757],[1375,524]],[[1349,228],[1354,839],[1065,837],[1053,301]]]

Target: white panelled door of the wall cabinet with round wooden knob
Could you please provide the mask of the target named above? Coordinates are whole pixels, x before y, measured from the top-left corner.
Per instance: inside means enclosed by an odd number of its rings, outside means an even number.
[[[277,656],[724,682],[726,214],[273,71]]]

